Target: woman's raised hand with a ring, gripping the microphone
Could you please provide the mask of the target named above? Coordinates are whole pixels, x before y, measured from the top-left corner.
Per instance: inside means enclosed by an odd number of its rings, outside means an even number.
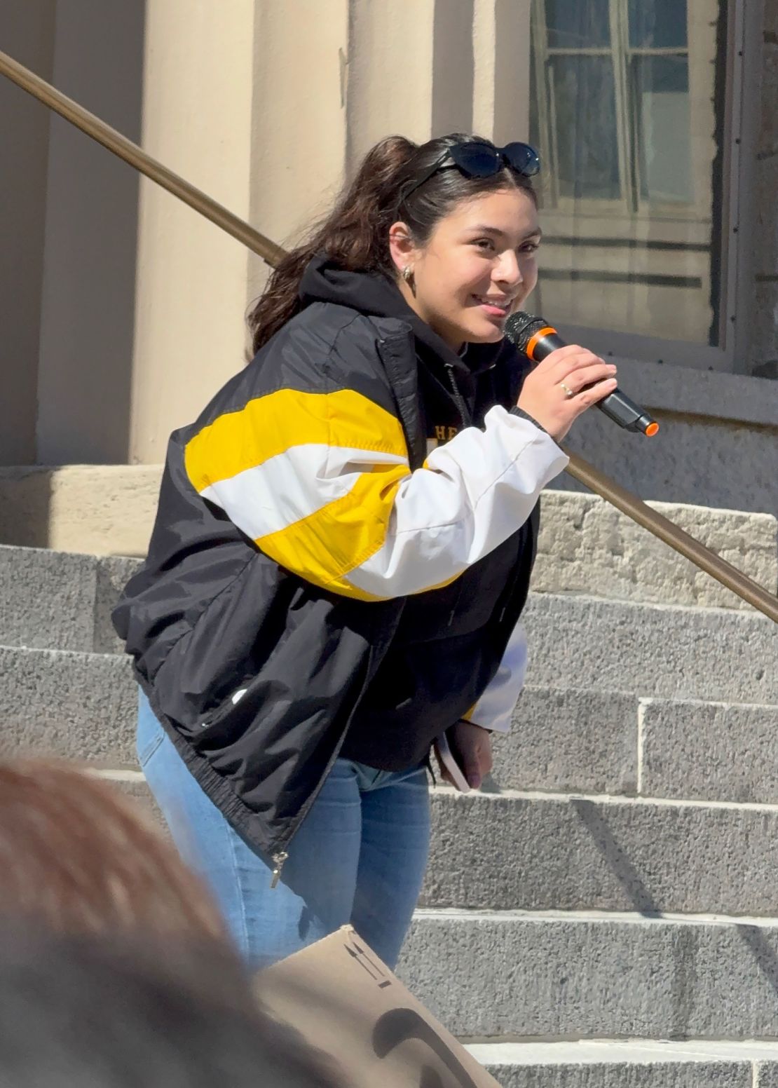
[[[558,347],[527,375],[519,408],[561,442],[573,421],[616,388],[616,367],[577,344]]]

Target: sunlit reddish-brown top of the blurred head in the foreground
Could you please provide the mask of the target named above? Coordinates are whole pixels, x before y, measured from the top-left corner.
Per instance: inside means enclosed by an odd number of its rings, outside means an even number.
[[[0,764],[0,914],[54,930],[225,940],[205,888],[132,800],[69,764]]]

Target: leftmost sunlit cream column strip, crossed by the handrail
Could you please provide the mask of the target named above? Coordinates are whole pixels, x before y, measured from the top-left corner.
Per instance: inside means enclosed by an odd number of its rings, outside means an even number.
[[[254,0],[149,3],[143,145],[247,218]],[[247,251],[152,182],[140,183],[131,463],[164,458],[170,432],[194,420],[244,364]]]

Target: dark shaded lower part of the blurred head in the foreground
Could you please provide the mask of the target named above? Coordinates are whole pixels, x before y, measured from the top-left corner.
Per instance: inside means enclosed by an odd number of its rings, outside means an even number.
[[[107,935],[0,936],[2,1088],[335,1088],[235,961]]]

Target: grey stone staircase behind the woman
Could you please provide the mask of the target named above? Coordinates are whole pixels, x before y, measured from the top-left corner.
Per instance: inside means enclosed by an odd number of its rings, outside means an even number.
[[[775,592],[775,518],[656,505]],[[109,620],[137,561],[0,547],[0,745],[149,804]],[[506,1088],[778,1088],[778,628],[586,495],[547,493],[534,584],[399,974]]]

